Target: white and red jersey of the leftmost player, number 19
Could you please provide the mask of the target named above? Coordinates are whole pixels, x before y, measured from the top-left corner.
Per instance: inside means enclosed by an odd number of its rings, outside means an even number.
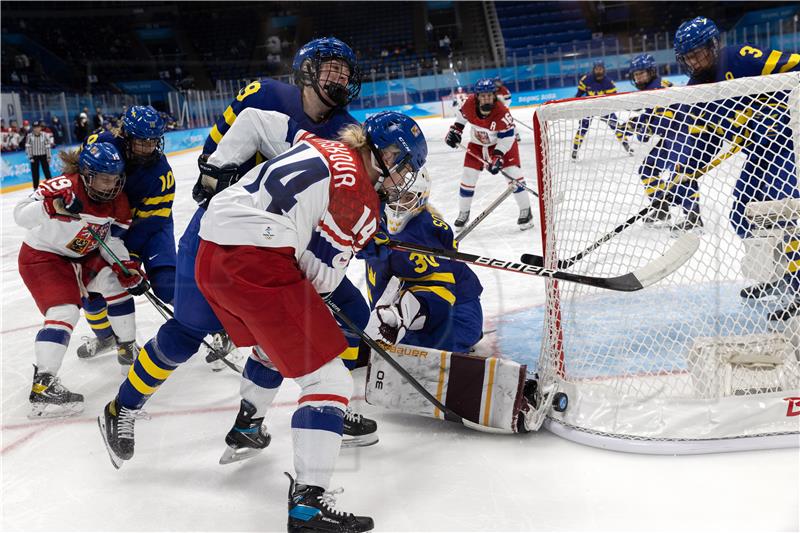
[[[83,206],[80,219],[67,221],[51,218],[44,209],[42,191],[45,188],[71,188]],[[110,202],[92,201],[78,174],[66,174],[42,182],[36,191],[14,207],[14,221],[28,230],[25,244],[43,252],[77,259],[99,248],[100,255],[109,264],[113,263],[112,258],[86,229],[90,226],[117,257],[123,261],[130,259],[121,238],[131,223],[127,196],[121,192]]]

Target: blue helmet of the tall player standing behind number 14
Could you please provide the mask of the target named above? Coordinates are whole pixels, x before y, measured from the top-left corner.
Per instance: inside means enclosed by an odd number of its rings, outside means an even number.
[[[339,72],[322,71],[323,63],[336,59],[344,62],[350,71],[347,85],[337,79]],[[297,85],[312,87],[330,107],[345,107],[361,92],[361,70],[356,54],[336,37],[314,39],[301,46],[294,56],[292,70]]]

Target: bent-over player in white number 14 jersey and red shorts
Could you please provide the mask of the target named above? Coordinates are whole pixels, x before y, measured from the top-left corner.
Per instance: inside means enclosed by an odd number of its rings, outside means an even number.
[[[323,297],[377,231],[379,195],[401,198],[427,156],[419,126],[399,113],[349,125],[340,139],[311,138],[255,167],[215,196],[200,228],[198,286],[233,342],[259,347],[258,372],[275,385],[261,389],[261,403],[284,377],[301,388],[289,531],[373,528],[369,517],[336,511],[326,492],[353,378]]]

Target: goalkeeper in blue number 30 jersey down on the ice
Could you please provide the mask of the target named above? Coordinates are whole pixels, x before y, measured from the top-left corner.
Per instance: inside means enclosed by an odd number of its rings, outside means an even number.
[[[457,248],[452,229],[430,206],[429,196],[430,178],[423,169],[402,196],[386,204],[381,231],[357,255],[367,263],[367,294],[372,306],[365,331],[393,351],[401,365],[413,361],[415,366],[407,370],[414,376],[425,376],[426,382],[447,382],[447,401],[459,404],[462,416],[508,432],[538,429],[537,382],[529,378],[526,367],[507,359],[472,355],[483,337],[483,287],[470,267],[385,246],[391,238],[432,248]],[[398,344],[403,346],[395,348]],[[409,351],[419,357],[403,357]],[[372,357],[371,365],[384,363],[379,356]],[[445,365],[440,363],[442,357]],[[465,367],[470,371],[462,372]],[[381,371],[387,376],[393,372],[389,368]],[[380,399],[371,396],[371,403],[436,416],[427,402],[410,407],[419,393],[403,380],[386,380],[378,391],[372,386],[375,374],[371,369],[367,394],[376,392]],[[483,376],[490,374],[496,378],[488,386],[494,388],[487,391]],[[495,395],[494,402],[489,402],[491,407],[481,417],[475,406],[482,405],[487,394]]]

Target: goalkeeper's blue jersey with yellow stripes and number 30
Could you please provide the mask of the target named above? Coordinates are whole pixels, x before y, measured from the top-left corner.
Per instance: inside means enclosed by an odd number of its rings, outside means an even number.
[[[381,223],[381,230],[386,232],[385,221]],[[433,248],[456,248],[450,226],[427,210],[412,218],[403,231],[392,238]],[[454,305],[476,300],[483,292],[478,277],[464,263],[392,250],[385,260],[367,264],[370,307],[375,306],[392,277],[400,279],[402,288],[413,292],[427,306],[426,329],[445,321]]]

